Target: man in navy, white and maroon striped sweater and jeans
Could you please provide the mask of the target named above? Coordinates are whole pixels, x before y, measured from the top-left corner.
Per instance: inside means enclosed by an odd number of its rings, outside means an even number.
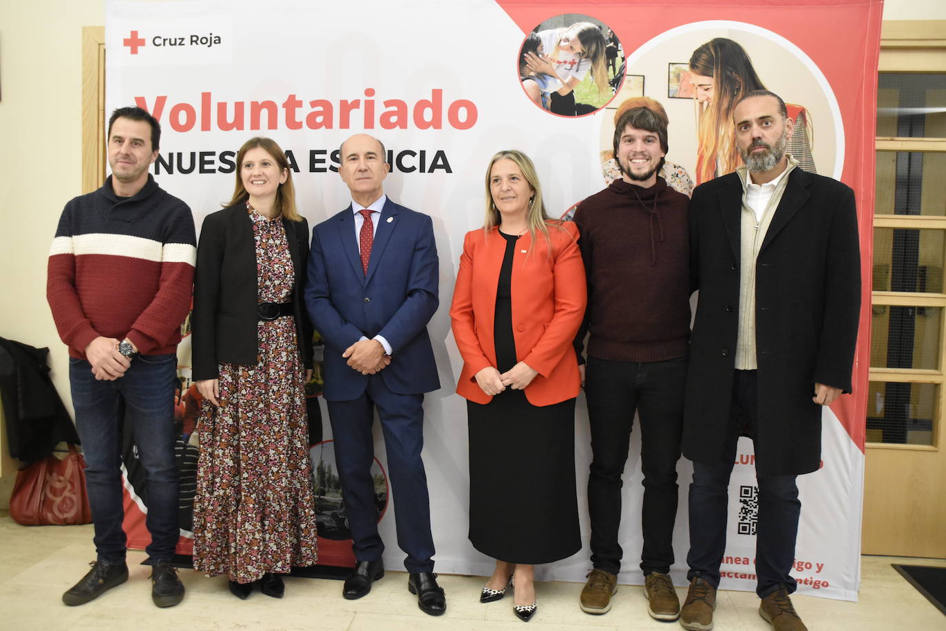
[[[178,540],[174,383],[181,323],[190,308],[194,219],[148,172],[161,127],[140,108],[109,120],[112,175],[68,202],[49,252],[46,298],[62,342],[86,460],[96,562],[62,595],[82,605],[128,579],[121,433],[131,419],[147,472],[151,598],[177,605],[184,586],[171,565]]]

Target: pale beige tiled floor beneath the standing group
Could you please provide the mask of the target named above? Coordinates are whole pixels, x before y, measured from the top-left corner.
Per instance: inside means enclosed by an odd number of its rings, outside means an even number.
[[[226,588],[226,579],[205,578],[182,571],[184,603],[167,609],[151,605],[149,568],[138,565],[143,552],[130,552],[129,582],[98,600],[78,607],[61,604],[61,592],[84,573],[93,556],[92,526],[23,527],[0,514],[0,629],[350,629],[352,631],[423,631],[449,629],[679,629],[675,622],[657,622],[646,613],[640,587],[619,587],[615,605],[604,616],[578,608],[580,586],[546,583],[538,586],[539,609],[528,627],[511,611],[511,600],[481,605],[482,578],[441,575],[447,590],[447,614],[431,618],[408,593],[407,575],[389,571],[372,592],[358,601],[342,599],[338,581],[289,578],[286,597],[275,600],[258,591],[243,602]],[[823,630],[900,631],[946,629],[946,616],[890,567],[891,562],[946,567],[946,561],[865,556],[859,603],[797,596],[796,608],[809,628]],[[679,589],[681,599],[685,595]],[[721,591],[716,629],[769,629],[757,613],[755,594]]]

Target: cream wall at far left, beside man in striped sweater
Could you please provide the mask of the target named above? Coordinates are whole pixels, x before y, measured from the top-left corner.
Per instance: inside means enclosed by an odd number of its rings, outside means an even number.
[[[79,195],[82,26],[101,26],[104,0],[0,2],[0,336],[49,346],[72,409],[65,347],[46,305],[46,255],[62,205]],[[0,507],[15,466],[0,454]]]

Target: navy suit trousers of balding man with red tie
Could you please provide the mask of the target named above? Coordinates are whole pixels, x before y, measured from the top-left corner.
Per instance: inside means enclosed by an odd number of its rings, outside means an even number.
[[[375,459],[371,428],[377,407],[393,487],[397,545],[407,554],[404,567],[409,572],[433,571],[430,501],[420,455],[424,448],[424,395],[393,393],[383,377],[373,375],[357,399],[327,403],[355,558],[377,561],[384,552],[377,533],[375,481],[371,476]]]

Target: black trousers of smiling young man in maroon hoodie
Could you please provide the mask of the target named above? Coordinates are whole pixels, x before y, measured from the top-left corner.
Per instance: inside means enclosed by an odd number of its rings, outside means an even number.
[[[640,418],[640,468],[644,476],[640,569],[645,576],[652,571],[668,573],[674,564],[676,462],[680,459],[686,377],[686,358],[587,360],[585,394],[592,453],[588,513],[591,563],[599,570],[612,574],[621,570],[618,530],[622,474],[635,412]]]

